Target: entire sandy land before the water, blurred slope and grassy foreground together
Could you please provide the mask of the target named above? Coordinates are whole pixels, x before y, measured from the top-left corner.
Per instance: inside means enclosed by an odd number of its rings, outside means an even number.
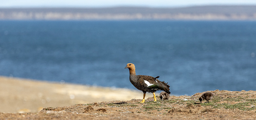
[[[209,103],[201,93],[170,96],[157,101],[151,94],[129,89],[56,84],[0,77],[0,120],[255,120],[256,91],[209,91]],[[17,113],[18,112],[18,113]]]

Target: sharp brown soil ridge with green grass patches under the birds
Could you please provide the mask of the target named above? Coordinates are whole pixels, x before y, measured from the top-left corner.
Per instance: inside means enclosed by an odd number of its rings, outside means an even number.
[[[198,97],[170,96],[161,101],[157,96],[128,101],[107,101],[71,106],[47,107],[39,112],[0,113],[0,119],[256,119],[256,91],[210,91],[209,103],[200,103]],[[205,100],[203,100],[205,102]]]

